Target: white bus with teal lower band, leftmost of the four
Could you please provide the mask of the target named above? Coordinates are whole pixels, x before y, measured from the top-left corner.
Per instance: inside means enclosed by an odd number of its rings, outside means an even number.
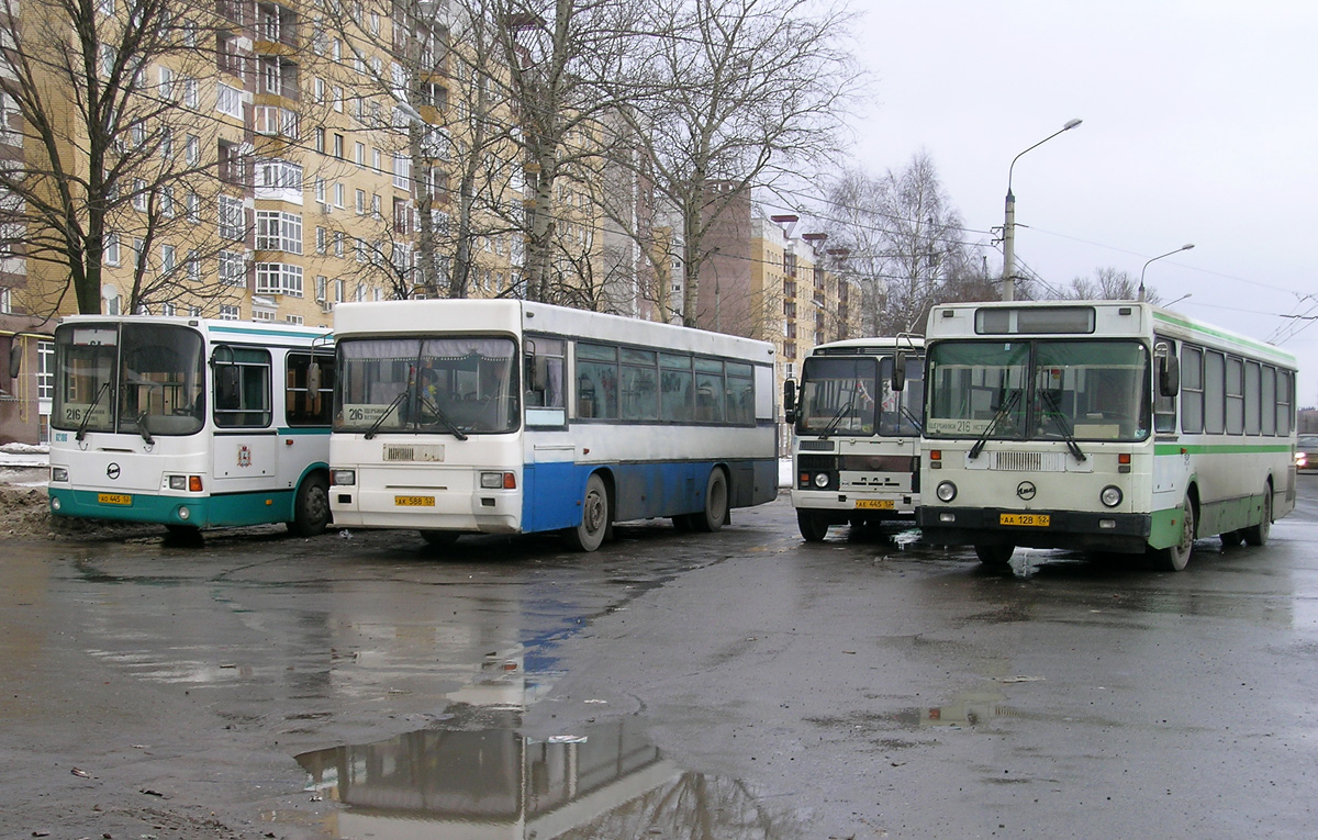
[[[50,511],[174,533],[330,521],[327,330],[154,316],[55,328]]]

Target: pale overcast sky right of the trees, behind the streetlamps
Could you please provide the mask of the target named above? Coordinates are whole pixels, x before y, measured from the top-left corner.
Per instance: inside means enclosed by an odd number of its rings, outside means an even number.
[[[1016,255],[1061,287],[1099,266],[1244,334],[1318,316],[1318,3],[1313,0],[854,0],[874,104],[855,154],[919,150],[967,228],[1002,225],[1016,163]],[[1000,271],[1000,251],[996,270]],[[1318,403],[1318,325],[1300,406]]]

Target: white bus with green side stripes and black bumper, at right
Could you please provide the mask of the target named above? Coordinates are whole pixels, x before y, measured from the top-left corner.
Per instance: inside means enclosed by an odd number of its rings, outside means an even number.
[[[1294,507],[1296,361],[1272,345],[1132,302],[942,305],[925,344],[929,542],[1181,570]]]

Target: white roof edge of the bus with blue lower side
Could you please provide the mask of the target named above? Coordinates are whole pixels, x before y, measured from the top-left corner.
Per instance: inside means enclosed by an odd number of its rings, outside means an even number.
[[[343,303],[335,308],[335,336],[340,338],[381,333],[473,332],[538,332],[568,338],[671,346],[695,353],[749,358],[766,365],[774,361],[774,345],[768,341],[529,300],[378,300]]]

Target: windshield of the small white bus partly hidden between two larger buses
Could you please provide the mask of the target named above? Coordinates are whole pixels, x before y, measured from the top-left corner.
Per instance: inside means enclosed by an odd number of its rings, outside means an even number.
[[[907,382],[892,390],[892,357],[811,357],[801,370],[800,434],[915,437],[924,402],[919,359],[908,359]],[[915,407],[915,411],[912,411]]]

